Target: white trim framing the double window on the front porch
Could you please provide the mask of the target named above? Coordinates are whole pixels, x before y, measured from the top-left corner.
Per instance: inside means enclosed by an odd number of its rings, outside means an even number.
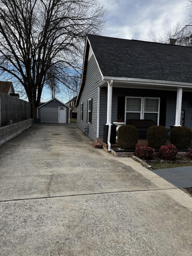
[[[140,112],[139,111],[126,111],[126,107],[127,107],[127,98],[137,98],[137,99],[141,99],[141,109]],[[145,99],[158,99],[158,112],[145,112],[144,111],[144,106],[145,106]],[[135,96],[126,96],[125,97],[125,120],[126,120],[126,113],[140,113],[140,119],[144,119],[144,113],[157,113],[158,114],[158,118],[157,118],[157,125],[159,125],[159,115],[160,115],[160,98],[157,97],[135,97]]]

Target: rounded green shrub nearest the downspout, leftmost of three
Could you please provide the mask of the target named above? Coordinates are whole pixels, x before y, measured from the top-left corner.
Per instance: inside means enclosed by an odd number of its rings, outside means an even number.
[[[121,149],[135,149],[139,137],[134,125],[123,125],[117,131],[118,146]]]

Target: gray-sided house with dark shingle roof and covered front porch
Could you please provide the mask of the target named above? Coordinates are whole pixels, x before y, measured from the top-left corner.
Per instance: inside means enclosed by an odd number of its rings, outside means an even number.
[[[87,35],[77,127],[94,141],[118,117],[192,129],[191,59],[191,47]]]

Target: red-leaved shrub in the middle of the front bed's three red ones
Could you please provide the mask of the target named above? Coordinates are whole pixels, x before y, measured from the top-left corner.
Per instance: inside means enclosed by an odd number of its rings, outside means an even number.
[[[173,144],[161,146],[158,152],[158,156],[166,160],[175,160],[176,155],[177,148]]]

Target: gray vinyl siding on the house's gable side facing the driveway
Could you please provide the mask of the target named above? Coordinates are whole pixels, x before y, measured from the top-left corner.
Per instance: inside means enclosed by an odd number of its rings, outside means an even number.
[[[97,110],[98,110],[98,86],[101,85],[102,77],[95,61],[94,55],[90,57],[87,63],[87,73],[85,85],[79,100],[77,113],[77,127],[84,131],[85,125],[89,126],[88,136],[92,140],[97,138]],[[91,124],[87,123],[87,102],[92,98],[92,119]],[[81,103],[83,103],[83,121],[80,119]]]

